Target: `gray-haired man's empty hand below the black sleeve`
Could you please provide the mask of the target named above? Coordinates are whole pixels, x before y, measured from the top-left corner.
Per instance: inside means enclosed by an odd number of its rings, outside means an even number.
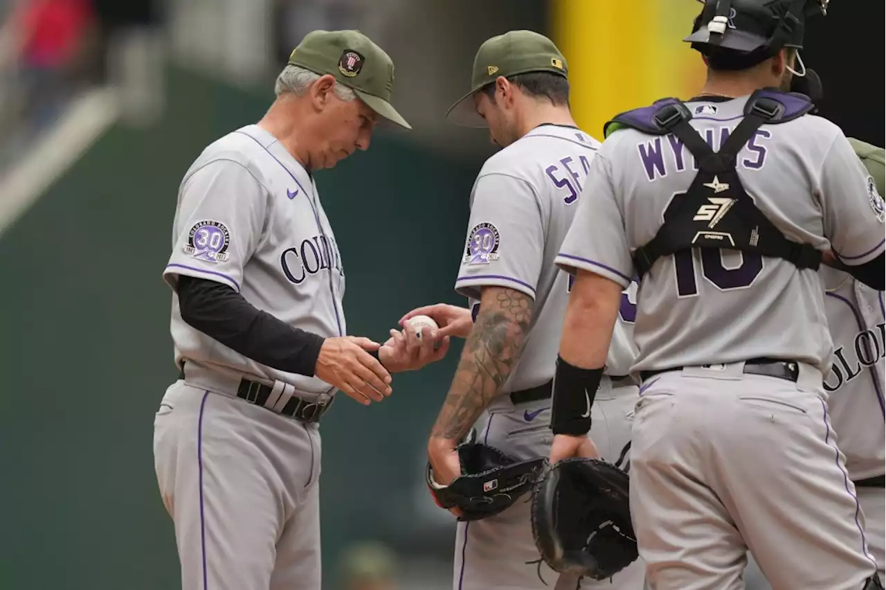
[[[379,346],[369,338],[326,338],[314,375],[365,406],[384,400],[391,395],[391,374],[366,352],[378,350]]]

